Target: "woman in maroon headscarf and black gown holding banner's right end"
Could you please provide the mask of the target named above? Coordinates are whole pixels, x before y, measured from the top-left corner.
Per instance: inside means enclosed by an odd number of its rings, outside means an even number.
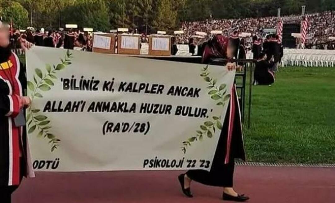
[[[214,36],[207,42],[203,53],[203,62],[211,64],[216,58],[232,60],[237,51],[233,40],[221,35]],[[226,66],[228,70],[240,68],[239,65],[232,62],[226,63]],[[235,158],[245,160],[241,112],[236,87],[233,85],[211,170],[210,172],[190,170],[181,174],[178,180],[183,193],[187,197],[193,197],[190,185],[192,181],[196,181],[205,185],[223,187],[223,200],[239,202],[248,200],[249,197],[239,195],[233,189]]]

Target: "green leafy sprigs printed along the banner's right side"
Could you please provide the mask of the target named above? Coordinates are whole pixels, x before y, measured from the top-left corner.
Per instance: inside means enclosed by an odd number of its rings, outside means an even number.
[[[216,85],[217,80],[209,77],[208,65],[202,68],[200,76],[208,83],[207,89],[210,98],[213,99],[217,106],[224,108],[226,102],[230,99],[230,94],[227,94],[227,85],[222,83],[220,86]],[[215,131],[222,129],[221,116],[213,116],[211,120],[208,120],[200,125],[200,128],[196,131],[196,135],[183,142],[182,152],[186,154],[187,148],[191,146],[192,142],[202,140],[203,137],[212,138]]]

